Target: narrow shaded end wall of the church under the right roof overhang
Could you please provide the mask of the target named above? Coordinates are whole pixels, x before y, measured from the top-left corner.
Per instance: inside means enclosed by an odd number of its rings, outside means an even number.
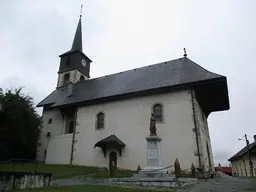
[[[202,164],[205,165],[207,170],[210,167],[212,170],[214,170],[213,153],[212,153],[211,139],[210,139],[210,134],[209,134],[207,118],[204,115],[204,113],[196,99],[194,99],[194,103],[195,103],[196,123],[197,123],[197,127],[199,130],[199,146],[200,146]],[[209,146],[211,165],[209,165],[206,143]]]

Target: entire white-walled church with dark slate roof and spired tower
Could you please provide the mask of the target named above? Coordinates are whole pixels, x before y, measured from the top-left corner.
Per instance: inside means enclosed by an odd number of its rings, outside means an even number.
[[[43,107],[38,160],[46,155],[46,163],[143,168],[154,112],[163,166],[178,158],[182,169],[194,163],[214,170],[207,118],[229,109],[225,76],[186,54],[92,79],[91,62],[82,51],[80,18],[71,50],[60,55],[57,88],[37,105]]]

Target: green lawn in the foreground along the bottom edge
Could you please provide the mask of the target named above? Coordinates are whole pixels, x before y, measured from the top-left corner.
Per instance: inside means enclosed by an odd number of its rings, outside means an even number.
[[[148,189],[132,189],[100,185],[73,185],[68,187],[52,187],[26,190],[28,192],[155,192]],[[163,191],[164,192],[164,191]],[[167,191],[165,191],[167,192]],[[170,192],[170,190],[168,191]],[[174,191],[172,191],[174,192]]]

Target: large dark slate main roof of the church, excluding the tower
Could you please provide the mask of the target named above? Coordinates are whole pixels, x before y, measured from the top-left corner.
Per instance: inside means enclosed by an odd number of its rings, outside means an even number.
[[[210,88],[209,85],[216,81],[218,81],[218,85],[221,84],[221,89],[224,90],[220,94],[210,93],[214,89]],[[135,93],[163,88],[172,90],[184,85],[192,87],[200,83],[206,84],[204,87],[209,88],[209,90],[204,90],[204,93],[209,94],[209,97],[202,96],[202,98],[208,99],[205,103],[215,105],[215,108],[209,109],[208,113],[229,109],[226,77],[202,68],[187,57],[76,83],[70,97],[67,97],[67,87],[61,87],[42,100],[37,107],[45,105],[63,107],[83,102],[100,101],[101,99],[109,100],[118,96],[134,96]],[[219,101],[215,101],[216,99],[209,101],[210,97],[221,97],[221,99],[225,97],[225,99],[220,104],[221,106],[216,107]]]

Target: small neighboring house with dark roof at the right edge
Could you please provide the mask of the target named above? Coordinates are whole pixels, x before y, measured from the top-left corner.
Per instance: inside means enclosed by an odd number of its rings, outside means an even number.
[[[249,144],[249,151],[251,153],[251,159],[253,163],[253,176],[256,176],[256,135],[254,135],[254,142]],[[247,146],[232,156],[229,161],[232,164],[233,176],[251,176]]]

